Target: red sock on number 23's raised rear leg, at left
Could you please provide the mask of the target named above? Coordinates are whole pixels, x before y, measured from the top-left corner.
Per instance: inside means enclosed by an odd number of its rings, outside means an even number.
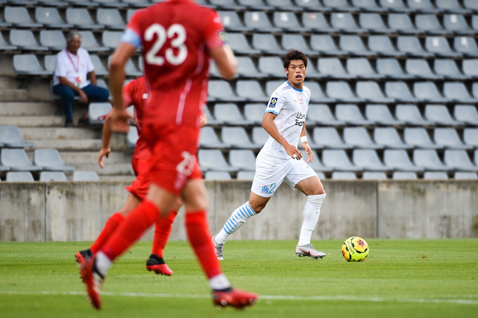
[[[144,200],[128,214],[118,229],[101,248],[108,258],[115,260],[130,247],[157,219],[159,210],[148,200]]]

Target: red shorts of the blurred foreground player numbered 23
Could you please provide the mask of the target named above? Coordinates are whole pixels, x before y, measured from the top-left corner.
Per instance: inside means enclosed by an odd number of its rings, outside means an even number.
[[[143,136],[152,149],[148,179],[178,195],[189,179],[203,177],[197,161],[199,129],[170,124],[149,124]]]

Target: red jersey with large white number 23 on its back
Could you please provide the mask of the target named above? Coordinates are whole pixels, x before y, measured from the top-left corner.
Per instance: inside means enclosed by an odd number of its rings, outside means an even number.
[[[216,11],[169,0],[137,11],[127,29],[141,37],[148,100],[141,124],[201,127],[209,51],[223,45]]]

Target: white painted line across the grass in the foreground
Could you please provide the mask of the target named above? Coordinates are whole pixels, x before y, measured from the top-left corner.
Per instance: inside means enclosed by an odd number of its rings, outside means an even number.
[[[0,291],[0,295],[85,295],[80,291]],[[102,292],[102,296],[120,297],[155,297],[155,298],[210,298],[210,295],[197,294],[156,294],[156,293],[113,293]],[[470,295],[471,296],[471,295]],[[359,297],[359,296],[286,296],[286,295],[261,295],[264,300],[316,300],[316,301],[369,301],[369,302],[400,302],[400,303],[428,303],[428,304],[460,304],[478,305],[478,300],[472,299],[444,299],[444,298],[385,298],[385,297]]]

